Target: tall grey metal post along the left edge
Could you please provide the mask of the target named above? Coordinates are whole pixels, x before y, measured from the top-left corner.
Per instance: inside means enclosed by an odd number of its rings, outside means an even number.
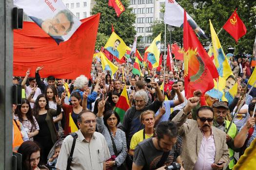
[[[13,0],[0,0],[0,170],[12,170]]]

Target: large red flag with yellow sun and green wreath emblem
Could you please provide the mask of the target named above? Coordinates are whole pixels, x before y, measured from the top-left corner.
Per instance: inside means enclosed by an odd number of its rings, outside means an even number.
[[[204,50],[195,32],[187,22],[186,11],[184,10],[183,27],[184,44],[184,76],[185,96],[193,97],[195,90],[202,93],[214,87],[214,78],[218,77],[217,69]]]

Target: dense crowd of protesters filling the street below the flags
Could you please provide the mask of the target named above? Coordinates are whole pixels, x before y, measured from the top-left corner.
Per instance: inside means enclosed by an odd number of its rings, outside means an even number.
[[[238,84],[232,103],[200,90],[186,99],[179,60],[172,71],[142,68],[144,76],[134,75],[131,63],[114,61],[118,71],[111,76],[94,59],[90,77],[75,80],[56,79],[54,73],[41,78],[42,66],[28,68],[25,77],[13,78],[26,94],[21,105],[13,105],[13,151],[22,154],[22,170],[231,170],[235,154],[241,156],[256,138],[256,88],[246,88],[254,69],[250,58],[229,63]],[[125,87],[131,107],[121,120],[113,110]],[[75,136],[68,135],[73,122]],[[66,137],[56,145],[61,136]]]

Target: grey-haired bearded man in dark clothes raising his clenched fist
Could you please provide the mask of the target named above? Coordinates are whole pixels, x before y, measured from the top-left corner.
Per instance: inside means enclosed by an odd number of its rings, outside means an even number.
[[[162,105],[163,95],[158,83],[151,82],[151,86],[156,89],[156,100],[146,106],[146,103],[148,102],[148,94],[144,90],[138,90],[134,95],[136,106],[132,106],[125,113],[121,130],[126,134],[128,151],[132,136],[139,130],[145,128],[145,126],[140,122],[140,114],[146,110],[152,110],[156,113]]]

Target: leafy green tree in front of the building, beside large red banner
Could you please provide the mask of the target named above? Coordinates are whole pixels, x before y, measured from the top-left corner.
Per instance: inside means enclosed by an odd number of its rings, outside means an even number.
[[[134,41],[134,36],[136,35],[134,23],[136,16],[132,14],[132,8],[129,8],[130,1],[122,0],[122,4],[125,8],[125,11],[117,17],[115,9],[108,6],[108,1],[106,0],[95,0],[96,4],[92,9],[92,15],[101,13],[98,33],[101,33],[97,36],[97,48],[99,46],[104,46],[105,44],[99,44],[98,38],[102,38],[104,35],[109,37],[112,34],[111,24],[114,25],[115,32],[120,36],[126,45],[132,45]],[[102,41],[103,43],[103,41]],[[98,49],[99,50],[99,49]]]

